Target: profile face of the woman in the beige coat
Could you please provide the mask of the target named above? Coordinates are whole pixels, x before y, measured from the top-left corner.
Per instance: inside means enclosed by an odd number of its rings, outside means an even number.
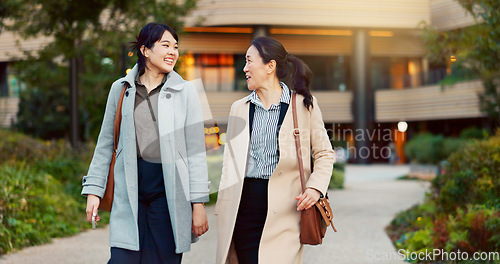
[[[259,51],[254,46],[248,48],[245,58],[246,64],[243,71],[247,79],[248,89],[257,90],[270,78],[269,63],[264,64]]]

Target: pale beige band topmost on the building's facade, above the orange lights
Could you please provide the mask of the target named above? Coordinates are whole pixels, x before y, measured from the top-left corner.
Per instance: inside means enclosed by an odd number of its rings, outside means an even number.
[[[201,0],[186,22],[190,26],[415,28],[422,20],[430,21],[429,0]]]

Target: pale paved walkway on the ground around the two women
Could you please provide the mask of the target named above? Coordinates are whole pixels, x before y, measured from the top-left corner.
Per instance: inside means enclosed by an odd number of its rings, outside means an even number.
[[[407,166],[346,166],[346,188],[329,194],[338,233],[329,229],[323,245],[306,246],[304,263],[404,263],[397,260],[384,228],[397,212],[421,202],[428,188],[424,182],[395,180],[408,171]],[[193,244],[191,252],[184,254],[183,263],[215,262],[217,238],[213,206],[207,207],[207,211],[211,229]],[[1,256],[0,264],[106,263],[108,232],[108,228],[104,228],[54,239],[48,245]]]

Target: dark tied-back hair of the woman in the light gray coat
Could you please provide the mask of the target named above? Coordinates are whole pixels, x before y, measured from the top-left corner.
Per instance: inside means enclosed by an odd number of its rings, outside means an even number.
[[[165,24],[149,23],[145,25],[139,35],[135,38],[136,41],[130,42],[130,50],[137,53],[137,64],[139,65],[139,75],[144,74],[146,70],[146,57],[141,52],[141,47],[144,46],[148,49],[153,48],[155,43],[161,39],[165,31],[170,32],[176,41],[179,37],[175,30]]]

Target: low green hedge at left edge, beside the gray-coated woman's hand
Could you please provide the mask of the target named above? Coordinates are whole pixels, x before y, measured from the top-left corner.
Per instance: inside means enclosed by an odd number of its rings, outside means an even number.
[[[89,228],[80,191],[91,150],[0,130],[0,254]]]

